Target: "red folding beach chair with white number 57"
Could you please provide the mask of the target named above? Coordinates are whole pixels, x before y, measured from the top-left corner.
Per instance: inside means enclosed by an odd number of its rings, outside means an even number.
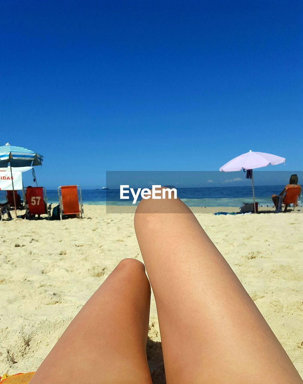
[[[26,199],[26,217],[32,215],[48,215],[46,190],[43,187],[27,187],[23,189]]]

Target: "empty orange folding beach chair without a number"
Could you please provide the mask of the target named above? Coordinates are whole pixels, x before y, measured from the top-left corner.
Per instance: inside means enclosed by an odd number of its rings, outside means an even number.
[[[80,192],[80,204],[78,196],[78,187]],[[79,185],[63,185],[58,188],[58,195],[60,202],[61,220],[63,215],[80,215],[81,218],[84,218],[81,187]]]

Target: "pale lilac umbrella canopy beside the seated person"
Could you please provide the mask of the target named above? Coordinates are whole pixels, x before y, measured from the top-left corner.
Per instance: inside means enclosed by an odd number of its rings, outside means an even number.
[[[285,163],[285,157],[272,155],[265,152],[249,151],[240,156],[235,157],[220,168],[222,172],[234,172],[243,169],[256,169],[267,167],[269,164],[276,166],[277,164]]]

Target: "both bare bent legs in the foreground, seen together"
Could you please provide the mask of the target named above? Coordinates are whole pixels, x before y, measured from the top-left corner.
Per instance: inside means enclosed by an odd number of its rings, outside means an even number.
[[[181,200],[142,200],[135,231],[155,295],[167,384],[302,384],[257,306]],[[141,262],[120,262],[30,384],[152,384],[146,355],[150,283]]]

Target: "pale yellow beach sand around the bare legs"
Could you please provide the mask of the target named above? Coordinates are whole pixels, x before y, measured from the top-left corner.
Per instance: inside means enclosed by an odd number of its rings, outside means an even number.
[[[192,210],[303,377],[303,214]],[[84,220],[0,222],[0,375],[35,371],[120,260],[143,261],[133,214],[84,212]],[[164,383],[153,296],[147,352],[153,382]]]

